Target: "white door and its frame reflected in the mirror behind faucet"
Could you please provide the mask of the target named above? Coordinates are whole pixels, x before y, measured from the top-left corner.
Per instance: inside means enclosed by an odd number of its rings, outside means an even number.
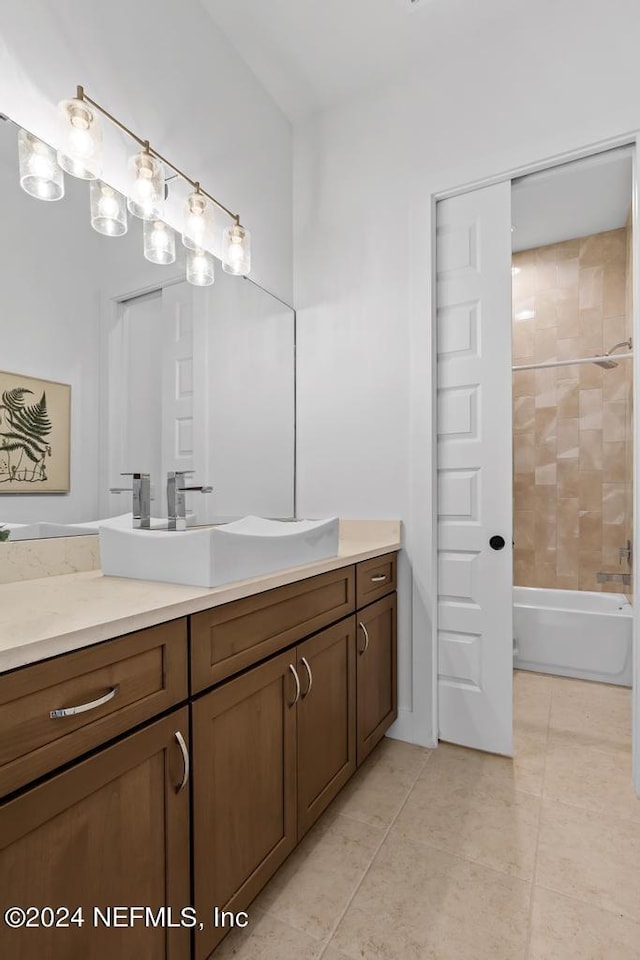
[[[206,479],[207,345],[199,302],[188,284],[171,284],[120,302],[110,330],[106,487],[128,486],[124,473],[149,473],[158,518],[167,516],[169,470]],[[130,510],[128,494],[107,496],[104,515]],[[189,498],[190,522],[205,521],[201,501]]]

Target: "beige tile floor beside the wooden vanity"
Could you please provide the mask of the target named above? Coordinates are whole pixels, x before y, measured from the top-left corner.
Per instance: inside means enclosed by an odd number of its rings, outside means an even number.
[[[514,680],[513,761],[385,740],[216,960],[639,960],[623,688]]]

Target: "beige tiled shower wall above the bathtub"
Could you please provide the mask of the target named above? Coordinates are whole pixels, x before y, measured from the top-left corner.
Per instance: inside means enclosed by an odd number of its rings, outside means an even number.
[[[514,364],[600,355],[630,335],[626,228],[513,256]],[[514,582],[611,590],[629,572],[630,361],[513,375]]]

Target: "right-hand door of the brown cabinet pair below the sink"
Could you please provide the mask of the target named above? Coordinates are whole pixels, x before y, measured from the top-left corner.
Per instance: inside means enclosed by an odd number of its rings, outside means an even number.
[[[298,839],[356,769],[355,617],[298,647]]]

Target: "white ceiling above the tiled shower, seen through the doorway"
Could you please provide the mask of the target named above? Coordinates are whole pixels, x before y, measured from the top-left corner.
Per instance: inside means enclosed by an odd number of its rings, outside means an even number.
[[[631,207],[631,184],[629,148],[516,180],[511,194],[513,251],[623,227]]]

